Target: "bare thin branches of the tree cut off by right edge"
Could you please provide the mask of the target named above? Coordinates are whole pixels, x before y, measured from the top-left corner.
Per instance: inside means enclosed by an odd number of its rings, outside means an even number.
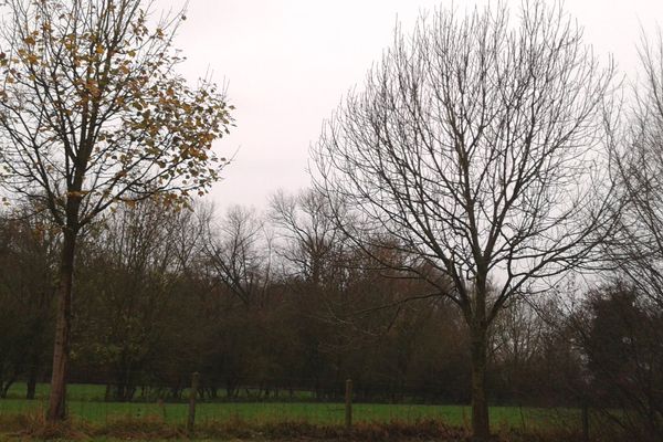
[[[634,85],[634,107],[615,149],[621,210],[619,240],[608,252],[619,270],[663,308],[663,35],[643,35],[641,76]]]

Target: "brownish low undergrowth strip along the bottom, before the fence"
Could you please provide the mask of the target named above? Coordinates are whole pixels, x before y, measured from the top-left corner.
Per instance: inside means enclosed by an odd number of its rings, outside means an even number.
[[[340,425],[284,421],[256,424],[241,419],[204,422],[188,433],[185,427],[159,418],[118,418],[106,423],[69,420],[49,424],[42,413],[0,415],[0,440],[222,440],[222,441],[440,441],[470,440],[466,428],[450,427],[438,420],[417,422],[359,422],[351,431]],[[515,431],[498,429],[495,442],[581,442],[581,434],[568,429]],[[604,440],[604,439],[601,439]]]

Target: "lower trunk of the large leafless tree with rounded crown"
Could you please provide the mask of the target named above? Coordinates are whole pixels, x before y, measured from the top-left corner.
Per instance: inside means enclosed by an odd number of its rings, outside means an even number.
[[[486,400],[487,333],[485,327],[472,329],[472,441],[491,438],[488,402]]]

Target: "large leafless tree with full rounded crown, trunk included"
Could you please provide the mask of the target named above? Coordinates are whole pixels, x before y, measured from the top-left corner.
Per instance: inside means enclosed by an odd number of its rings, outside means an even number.
[[[349,236],[370,251],[386,231],[412,272],[444,275],[430,283],[470,328],[475,440],[490,435],[491,324],[592,259],[614,222],[601,143],[612,77],[559,6],[525,2],[516,25],[504,4],[440,10],[397,30],[313,148],[317,189],[360,218]]]

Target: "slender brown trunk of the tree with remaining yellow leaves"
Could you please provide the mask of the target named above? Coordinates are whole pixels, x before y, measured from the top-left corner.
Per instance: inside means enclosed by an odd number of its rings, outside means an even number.
[[[60,283],[57,286],[59,299],[55,318],[55,343],[53,345],[53,375],[51,377],[51,396],[49,398],[49,412],[46,414],[50,422],[66,418],[66,375],[70,356],[75,248],[76,232],[65,228],[62,259],[60,262]]]

